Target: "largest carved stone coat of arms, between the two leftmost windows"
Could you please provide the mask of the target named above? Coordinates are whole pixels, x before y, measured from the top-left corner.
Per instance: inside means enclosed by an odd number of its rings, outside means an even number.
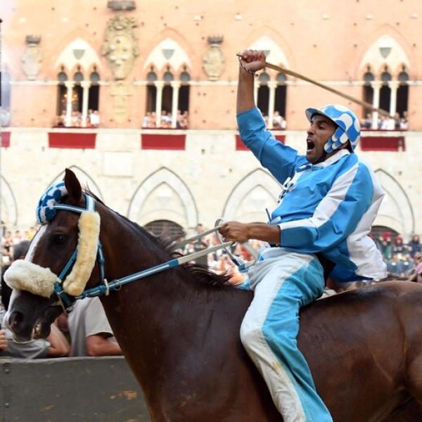
[[[125,79],[134,67],[139,49],[136,44],[137,26],[134,18],[117,15],[108,20],[106,39],[101,48],[101,54],[106,56],[116,81]]]

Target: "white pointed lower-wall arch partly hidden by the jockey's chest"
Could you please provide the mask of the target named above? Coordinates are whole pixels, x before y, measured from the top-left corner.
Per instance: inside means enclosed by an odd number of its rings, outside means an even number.
[[[267,222],[265,208],[273,210],[280,193],[280,184],[268,172],[257,169],[234,186],[224,204],[224,219],[243,222]]]

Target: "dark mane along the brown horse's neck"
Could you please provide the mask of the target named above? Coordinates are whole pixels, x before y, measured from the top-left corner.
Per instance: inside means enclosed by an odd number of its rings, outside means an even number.
[[[148,238],[148,240],[151,241],[153,245],[157,246],[160,250],[162,250],[162,252],[164,252],[165,255],[167,255],[167,257],[169,257],[170,259],[183,256],[180,252],[175,252],[174,250],[172,250],[174,243],[178,240],[177,238],[164,238],[162,236],[155,236],[151,234],[148,230],[146,230],[144,227],[140,226],[136,222],[133,222],[131,219],[119,214],[115,210],[111,210],[111,208],[108,207],[103,202],[103,200],[98,198],[98,196],[96,196],[88,187],[84,188],[84,192],[94,198],[99,203],[101,203],[102,205],[104,205],[105,207],[107,207],[110,211],[115,212],[120,218],[124,220],[124,222],[132,226],[136,231],[138,231],[139,234],[141,234],[142,236],[146,236],[146,238]],[[231,276],[229,274],[217,274],[206,265],[193,264],[187,262],[186,264],[181,264],[177,268],[184,269],[188,274],[189,279],[196,283],[201,283],[205,286],[231,286],[231,283],[229,283]]]

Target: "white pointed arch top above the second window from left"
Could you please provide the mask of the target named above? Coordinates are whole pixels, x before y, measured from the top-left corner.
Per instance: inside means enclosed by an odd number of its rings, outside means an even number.
[[[149,53],[143,65],[143,72],[146,72],[153,65],[159,73],[165,72],[165,68],[170,66],[175,72],[179,73],[184,65],[188,69],[192,68],[191,59],[181,45],[172,37],[163,39]]]

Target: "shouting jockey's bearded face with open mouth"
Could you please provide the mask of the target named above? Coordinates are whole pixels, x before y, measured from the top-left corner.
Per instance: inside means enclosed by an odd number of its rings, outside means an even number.
[[[335,131],[335,123],[323,115],[314,115],[307,129],[306,159],[312,164],[324,161],[333,153],[326,154],[324,145]],[[333,151],[335,152],[335,151]]]

